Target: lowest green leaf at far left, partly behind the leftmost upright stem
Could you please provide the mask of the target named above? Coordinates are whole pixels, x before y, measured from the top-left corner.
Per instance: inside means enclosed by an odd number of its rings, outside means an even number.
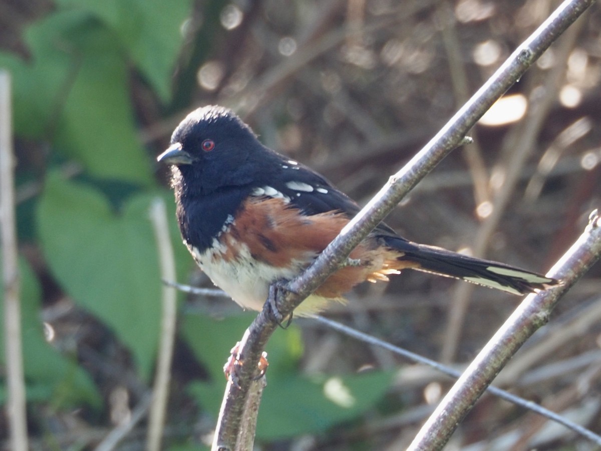
[[[40,321],[40,285],[25,261],[20,261],[20,310],[23,367],[28,401],[50,401],[56,407],[87,402],[99,407],[100,396],[75,359],[61,356],[46,342]],[[0,292],[0,365],[4,366],[4,290]],[[0,384],[3,386],[4,384]],[[0,391],[0,404],[6,393]]]

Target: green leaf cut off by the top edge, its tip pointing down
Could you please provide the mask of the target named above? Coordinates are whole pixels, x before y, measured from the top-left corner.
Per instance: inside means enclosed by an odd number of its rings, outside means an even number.
[[[171,97],[171,77],[182,45],[183,22],[191,0],[59,0],[81,8],[113,29],[124,49],[163,101]]]

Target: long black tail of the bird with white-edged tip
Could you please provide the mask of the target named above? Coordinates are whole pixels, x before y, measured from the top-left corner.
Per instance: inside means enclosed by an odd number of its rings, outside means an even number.
[[[402,253],[397,258],[401,268],[466,280],[513,294],[527,294],[561,284],[559,280],[542,274],[441,247],[412,243],[397,237],[386,237],[385,241],[392,249]]]

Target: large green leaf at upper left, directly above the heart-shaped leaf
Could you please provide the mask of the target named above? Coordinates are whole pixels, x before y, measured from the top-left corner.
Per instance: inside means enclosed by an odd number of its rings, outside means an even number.
[[[17,135],[51,136],[53,147],[90,174],[151,186],[127,58],[114,32],[90,14],[66,11],[31,25],[25,40],[31,62],[0,54],[0,65],[13,74]]]

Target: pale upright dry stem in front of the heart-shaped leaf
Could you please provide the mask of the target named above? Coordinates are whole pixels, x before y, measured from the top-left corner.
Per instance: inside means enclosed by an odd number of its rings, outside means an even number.
[[[175,261],[165,202],[157,198],[150,207],[150,220],[154,229],[154,238],[159,251],[160,276],[163,280],[175,280]],[[171,359],[175,342],[175,320],[177,318],[177,291],[168,285],[162,289],[163,312],[160,325],[159,358],[154,376],[153,400],[148,416],[146,449],[159,451],[165,427],[165,408],[169,396],[171,380]]]

